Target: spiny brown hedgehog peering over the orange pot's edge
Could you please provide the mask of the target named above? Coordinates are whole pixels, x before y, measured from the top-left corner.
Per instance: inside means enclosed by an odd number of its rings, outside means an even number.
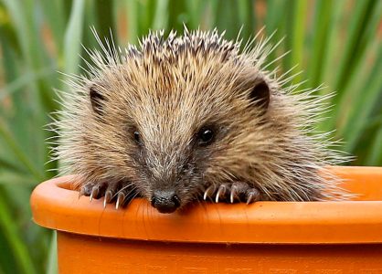
[[[53,159],[76,174],[80,195],[117,209],[142,197],[160,213],[203,200],[345,197],[327,168],[345,156],[316,130],[327,96],[292,84],[293,68],[267,69],[270,37],[242,45],[185,26],[122,49],[95,36],[101,50],[86,50],[54,122]]]

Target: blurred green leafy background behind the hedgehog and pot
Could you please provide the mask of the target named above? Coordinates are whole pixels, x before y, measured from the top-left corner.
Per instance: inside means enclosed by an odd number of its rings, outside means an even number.
[[[244,38],[262,26],[273,43],[285,39],[274,65],[299,64],[303,87],[324,83],[336,90],[330,119],[353,164],[382,164],[382,1],[176,1],[1,0],[0,1],[0,273],[55,272],[52,233],[31,221],[29,195],[52,176],[44,131],[58,109],[53,88],[64,89],[65,73],[79,73],[83,48],[97,47],[90,32],[122,46],[149,28],[227,30]]]

